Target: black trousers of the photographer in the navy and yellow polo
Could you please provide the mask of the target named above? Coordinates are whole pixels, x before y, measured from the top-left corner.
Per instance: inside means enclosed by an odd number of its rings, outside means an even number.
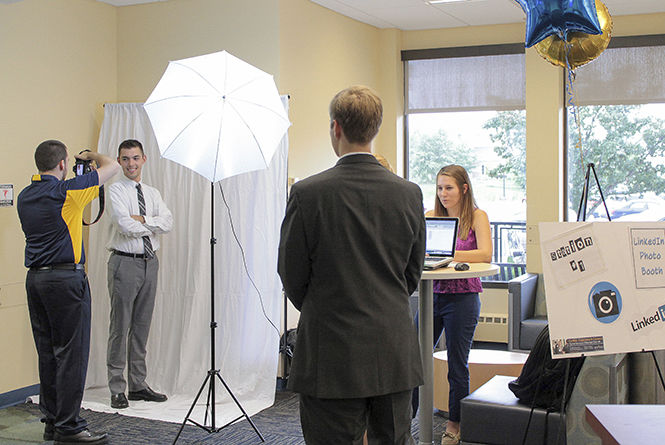
[[[83,270],[30,270],[25,287],[43,421],[60,434],[76,434],[87,427],[79,412],[90,352],[88,278]]]

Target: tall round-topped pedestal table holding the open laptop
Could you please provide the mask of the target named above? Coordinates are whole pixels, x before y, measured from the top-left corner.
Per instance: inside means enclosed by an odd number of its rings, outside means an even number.
[[[420,355],[423,360],[423,378],[425,383],[420,387],[418,405],[419,445],[432,444],[432,423],[434,412],[434,359],[432,352],[433,306],[434,291],[432,280],[451,280],[455,278],[477,278],[496,275],[499,266],[490,263],[469,263],[469,270],[457,271],[452,263],[448,267],[423,271],[418,286],[418,336],[420,339]]]

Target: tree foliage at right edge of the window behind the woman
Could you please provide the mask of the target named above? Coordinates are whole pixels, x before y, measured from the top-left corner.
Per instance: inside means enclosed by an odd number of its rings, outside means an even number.
[[[483,128],[490,130],[494,152],[505,162],[489,171],[491,178],[509,178],[526,190],[526,117],[523,110],[499,111]]]

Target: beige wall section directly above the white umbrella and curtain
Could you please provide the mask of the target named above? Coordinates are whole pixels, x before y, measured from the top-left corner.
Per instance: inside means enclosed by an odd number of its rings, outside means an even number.
[[[169,0],[118,8],[117,100],[145,101],[170,60],[222,50],[278,81],[278,1]]]

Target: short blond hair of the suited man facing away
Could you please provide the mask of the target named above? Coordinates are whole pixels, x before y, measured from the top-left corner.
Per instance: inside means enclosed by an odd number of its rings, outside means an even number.
[[[379,96],[362,85],[346,88],[333,97],[329,114],[337,121],[346,139],[352,144],[369,144],[379,132],[383,105]]]

